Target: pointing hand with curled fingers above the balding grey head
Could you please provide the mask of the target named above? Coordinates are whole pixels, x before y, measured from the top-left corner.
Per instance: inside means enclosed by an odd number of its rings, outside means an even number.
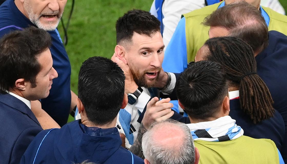
[[[169,101],[170,98],[158,101],[158,97],[154,97],[148,102],[146,113],[142,120],[144,128],[148,129],[153,122],[164,121],[174,114],[174,111],[171,110],[173,104]]]

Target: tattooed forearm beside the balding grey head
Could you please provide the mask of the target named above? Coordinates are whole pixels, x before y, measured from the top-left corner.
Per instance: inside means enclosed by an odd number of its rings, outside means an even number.
[[[129,148],[129,151],[131,151],[131,153],[141,157],[142,159],[144,159],[144,154],[141,149],[141,140],[146,131],[147,130],[146,128],[144,128],[143,123],[141,123],[141,126],[139,127],[139,130],[137,133],[137,138],[135,142],[133,143],[133,145],[131,145],[131,147]]]

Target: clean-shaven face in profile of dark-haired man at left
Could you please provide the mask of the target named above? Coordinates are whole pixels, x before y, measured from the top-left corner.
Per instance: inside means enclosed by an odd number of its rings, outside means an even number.
[[[52,85],[52,80],[58,77],[57,71],[52,67],[53,59],[49,49],[45,50],[38,57],[41,70],[36,76],[36,87],[32,88],[31,83],[25,90],[25,98],[28,100],[38,100],[48,97]]]

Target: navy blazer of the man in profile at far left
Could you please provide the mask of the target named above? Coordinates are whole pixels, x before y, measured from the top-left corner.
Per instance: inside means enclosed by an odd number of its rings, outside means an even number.
[[[0,110],[0,163],[19,164],[42,128],[31,109],[11,94],[0,94]]]

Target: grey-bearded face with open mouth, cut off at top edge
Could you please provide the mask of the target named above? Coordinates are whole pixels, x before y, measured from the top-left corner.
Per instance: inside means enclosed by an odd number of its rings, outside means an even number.
[[[24,12],[38,28],[55,30],[67,0],[24,0]]]

